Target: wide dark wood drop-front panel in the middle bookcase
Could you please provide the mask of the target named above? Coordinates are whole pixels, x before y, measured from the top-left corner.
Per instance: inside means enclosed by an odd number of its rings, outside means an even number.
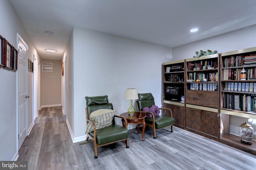
[[[218,92],[187,90],[186,103],[218,108]]]

